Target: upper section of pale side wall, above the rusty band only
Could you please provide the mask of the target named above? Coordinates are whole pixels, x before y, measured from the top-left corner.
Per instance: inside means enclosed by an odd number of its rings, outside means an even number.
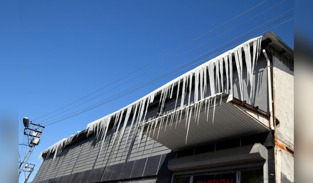
[[[276,57],[273,58],[274,112],[276,119],[280,122],[276,126],[276,135],[279,141],[284,142],[291,148],[294,148],[293,71],[291,71],[289,67]]]

